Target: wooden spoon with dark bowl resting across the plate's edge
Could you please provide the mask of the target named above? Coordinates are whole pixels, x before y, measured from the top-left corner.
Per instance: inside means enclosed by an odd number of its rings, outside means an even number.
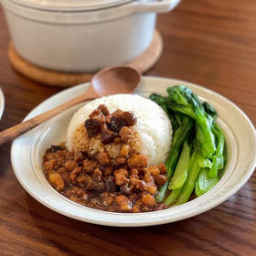
[[[140,74],[129,67],[102,69],[93,76],[91,85],[84,94],[0,133],[0,145],[15,139],[18,135],[26,133],[38,124],[44,123],[59,112],[63,112],[82,101],[116,93],[132,93],[139,85],[140,80]]]

